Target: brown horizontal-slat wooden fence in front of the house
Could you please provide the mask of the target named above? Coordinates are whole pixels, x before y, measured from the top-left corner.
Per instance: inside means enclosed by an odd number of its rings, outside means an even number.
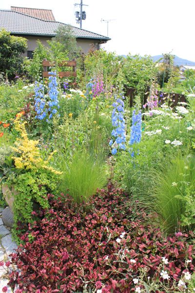
[[[55,66],[56,63],[55,62],[51,62],[51,61],[47,61],[47,59],[44,59],[42,61],[42,65],[43,65],[43,72],[42,72],[42,77],[49,77],[49,71],[47,69],[47,67],[50,66]],[[77,61],[76,60],[72,60],[72,61],[62,61],[61,63],[58,64],[59,67],[72,67],[72,71],[59,71],[59,77],[74,77],[73,83],[69,83],[72,85],[76,85],[76,77],[77,77]]]

